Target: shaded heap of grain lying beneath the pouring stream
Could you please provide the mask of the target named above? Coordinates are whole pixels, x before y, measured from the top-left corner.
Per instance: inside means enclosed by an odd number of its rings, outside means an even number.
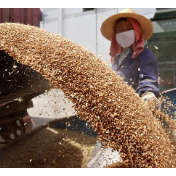
[[[12,146],[0,168],[86,168],[96,140],[81,132],[42,128]]]

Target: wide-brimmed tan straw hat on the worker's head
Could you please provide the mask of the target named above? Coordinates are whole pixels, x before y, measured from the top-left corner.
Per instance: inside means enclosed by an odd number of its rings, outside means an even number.
[[[130,17],[137,20],[141,26],[141,33],[144,37],[144,40],[148,40],[153,34],[153,25],[149,19],[146,17],[137,14],[132,9],[123,9],[120,13],[115,14],[107,18],[101,26],[101,33],[102,35],[111,41],[113,33],[114,33],[114,26],[115,22],[120,18]]]

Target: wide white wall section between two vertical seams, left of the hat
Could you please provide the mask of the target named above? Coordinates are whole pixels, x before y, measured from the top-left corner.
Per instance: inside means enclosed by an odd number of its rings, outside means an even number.
[[[63,37],[86,47],[96,53],[96,18],[95,13],[79,13],[65,16],[63,20]]]

